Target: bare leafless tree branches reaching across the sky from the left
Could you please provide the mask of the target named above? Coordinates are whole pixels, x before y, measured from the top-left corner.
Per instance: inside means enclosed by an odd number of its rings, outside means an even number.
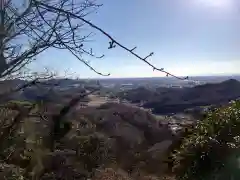
[[[109,49],[121,47],[153,70],[177,79],[188,78],[178,77],[163,68],[156,67],[148,61],[153,56],[153,52],[145,57],[140,56],[135,52],[137,47],[124,46],[102,28],[86,20],[85,17],[101,6],[94,0],[26,0],[26,3],[22,3],[8,0],[0,10],[2,15],[0,49],[3,51],[0,59],[0,78],[19,71],[34,61],[39,54],[52,48],[67,50],[99,75],[110,75],[99,72],[85,60],[85,56],[94,58],[105,56],[96,55],[92,48],[85,46],[92,35],[92,33],[85,34],[87,26],[99,31],[110,40]]]

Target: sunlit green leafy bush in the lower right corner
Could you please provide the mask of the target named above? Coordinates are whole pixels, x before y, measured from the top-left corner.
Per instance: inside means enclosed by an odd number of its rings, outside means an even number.
[[[230,179],[227,174],[237,168],[239,140],[240,102],[236,101],[210,112],[197,124],[173,152],[173,171],[184,180]]]

